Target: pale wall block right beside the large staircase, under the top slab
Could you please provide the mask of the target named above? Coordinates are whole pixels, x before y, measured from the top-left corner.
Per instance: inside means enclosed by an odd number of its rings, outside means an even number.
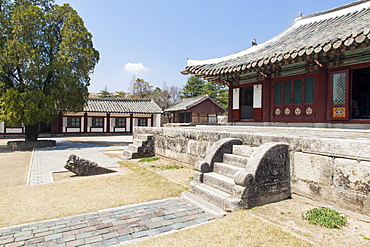
[[[293,154],[293,177],[322,185],[331,185],[334,174],[333,158],[295,152]]]

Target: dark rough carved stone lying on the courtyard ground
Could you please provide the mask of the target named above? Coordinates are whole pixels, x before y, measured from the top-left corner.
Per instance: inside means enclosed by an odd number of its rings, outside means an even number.
[[[101,167],[95,162],[80,159],[80,157],[74,154],[69,156],[67,164],[64,166],[64,168],[75,173],[77,176],[90,176],[117,172],[105,167]]]

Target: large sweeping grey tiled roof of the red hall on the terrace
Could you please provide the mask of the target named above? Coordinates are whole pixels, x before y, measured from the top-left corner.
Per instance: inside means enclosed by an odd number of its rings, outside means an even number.
[[[370,2],[360,0],[331,10],[297,17],[284,32],[272,39],[229,56],[188,60],[182,74],[202,77],[246,73],[286,59],[349,49],[369,43]]]

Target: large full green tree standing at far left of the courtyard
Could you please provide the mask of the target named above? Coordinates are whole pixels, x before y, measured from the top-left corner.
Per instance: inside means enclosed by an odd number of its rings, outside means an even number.
[[[59,111],[83,109],[99,61],[81,17],[53,2],[0,0],[0,121],[23,123],[26,141]]]

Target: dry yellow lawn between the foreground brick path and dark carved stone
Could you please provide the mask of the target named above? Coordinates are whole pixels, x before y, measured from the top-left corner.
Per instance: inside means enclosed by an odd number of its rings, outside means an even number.
[[[0,227],[179,197],[186,188],[132,162],[130,175],[0,188]]]

